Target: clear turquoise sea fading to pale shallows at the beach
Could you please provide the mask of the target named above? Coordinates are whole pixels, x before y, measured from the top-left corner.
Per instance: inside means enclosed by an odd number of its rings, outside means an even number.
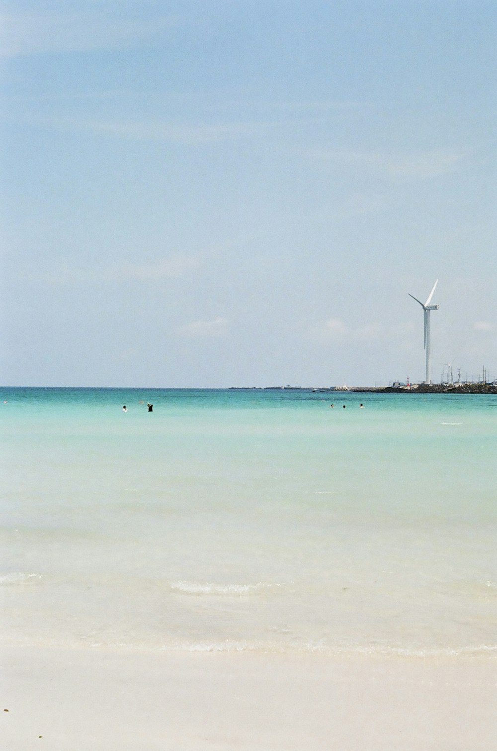
[[[0,421],[7,644],[497,656],[496,395],[1,388]]]

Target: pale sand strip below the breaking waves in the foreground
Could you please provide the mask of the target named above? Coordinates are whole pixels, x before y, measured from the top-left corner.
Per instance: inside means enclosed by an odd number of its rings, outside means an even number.
[[[484,657],[19,647],[1,657],[6,751],[497,748],[497,661]]]

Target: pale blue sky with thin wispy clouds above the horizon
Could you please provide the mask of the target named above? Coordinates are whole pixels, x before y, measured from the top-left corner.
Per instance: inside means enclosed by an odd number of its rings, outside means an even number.
[[[497,378],[494,0],[2,0],[0,383]]]

